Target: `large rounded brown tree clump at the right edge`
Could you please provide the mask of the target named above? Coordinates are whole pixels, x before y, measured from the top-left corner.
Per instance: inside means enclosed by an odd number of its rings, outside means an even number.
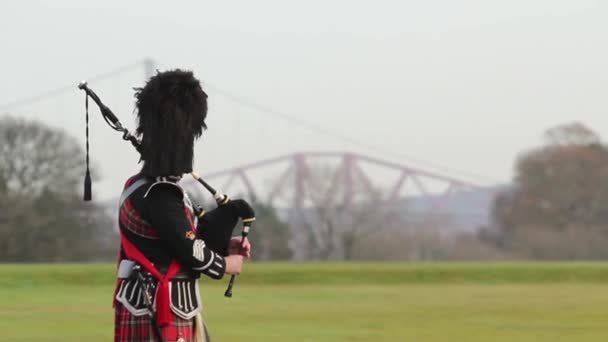
[[[608,258],[608,148],[595,132],[578,123],[550,129],[515,170],[482,241],[521,258]]]

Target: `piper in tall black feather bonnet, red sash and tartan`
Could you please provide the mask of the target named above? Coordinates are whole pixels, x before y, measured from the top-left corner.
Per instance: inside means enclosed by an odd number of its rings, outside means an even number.
[[[241,272],[251,245],[232,229],[251,208],[233,200],[205,213],[180,186],[206,129],[207,94],[192,72],[157,72],[135,98],[143,167],[120,197],[114,340],[209,341],[199,278]]]

